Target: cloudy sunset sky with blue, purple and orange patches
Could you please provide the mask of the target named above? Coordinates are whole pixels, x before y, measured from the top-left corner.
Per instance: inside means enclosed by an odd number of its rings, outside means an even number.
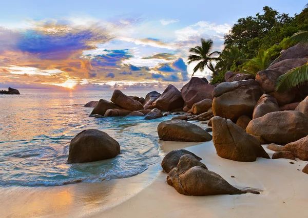
[[[223,49],[241,17],[264,6],[294,16],[304,0],[3,1],[0,87],[145,89],[187,83],[200,38]],[[195,75],[210,79],[210,71]]]

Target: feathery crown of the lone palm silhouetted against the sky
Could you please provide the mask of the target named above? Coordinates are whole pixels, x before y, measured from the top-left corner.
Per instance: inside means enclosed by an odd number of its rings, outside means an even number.
[[[213,73],[216,73],[212,61],[218,61],[220,58],[213,57],[215,55],[220,54],[220,52],[210,52],[211,48],[213,47],[213,41],[211,39],[205,40],[201,38],[201,47],[196,46],[195,48],[190,48],[189,52],[194,53],[188,56],[188,64],[200,61],[197,66],[194,68],[194,72],[191,76],[194,76],[194,74],[200,70],[201,72],[204,71],[205,67],[207,67],[209,70],[211,70]]]

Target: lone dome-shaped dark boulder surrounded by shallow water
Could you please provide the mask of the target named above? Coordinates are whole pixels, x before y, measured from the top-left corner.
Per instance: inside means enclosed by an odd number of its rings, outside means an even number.
[[[86,129],[69,144],[68,163],[85,163],[114,158],[120,154],[120,145],[107,133]]]

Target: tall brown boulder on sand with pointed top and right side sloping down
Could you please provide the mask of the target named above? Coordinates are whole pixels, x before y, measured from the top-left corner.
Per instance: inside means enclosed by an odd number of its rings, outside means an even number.
[[[260,142],[222,117],[213,117],[213,142],[217,155],[234,161],[253,162],[258,157],[269,158]]]

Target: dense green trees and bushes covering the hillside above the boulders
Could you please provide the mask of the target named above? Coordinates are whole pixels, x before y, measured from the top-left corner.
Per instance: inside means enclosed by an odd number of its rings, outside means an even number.
[[[224,37],[211,83],[222,82],[227,71],[256,74],[266,69],[281,50],[295,45],[296,40],[288,39],[299,31],[308,31],[308,8],[291,17],[265,6],[263,14],[240,18]]]

